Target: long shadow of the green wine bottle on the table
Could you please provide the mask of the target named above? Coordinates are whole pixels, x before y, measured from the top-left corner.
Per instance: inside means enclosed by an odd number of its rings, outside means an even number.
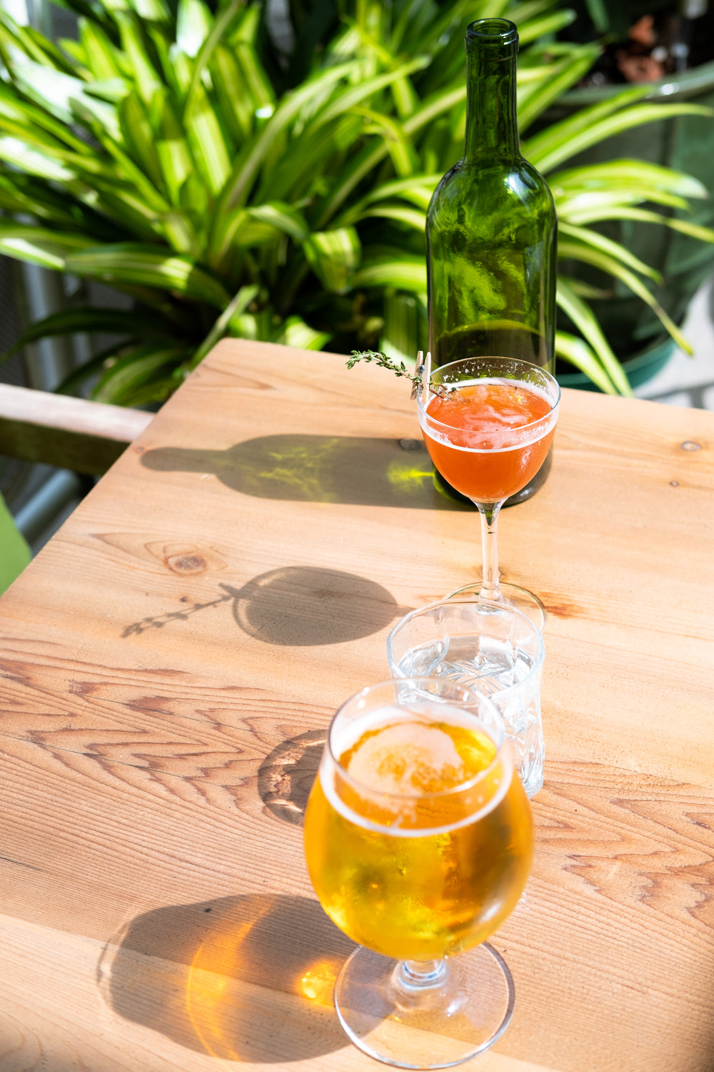
[[[159,447],[141,455],[159,471],[213,473],[244,495],[308,503],[472,509],[434,482],[421,440],[261,435],[229,450]]]

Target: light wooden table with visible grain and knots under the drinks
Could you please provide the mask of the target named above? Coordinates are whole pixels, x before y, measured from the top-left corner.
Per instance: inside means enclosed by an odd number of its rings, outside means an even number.
[[[223,342],[0,601],[2,1072],[380,1067],[300,823],[392,624],[476,571],[419,440],[383,370]],[[501,517],[547,760],[484,1072],[714,1067],[713,492],[713,414],[565,391]]]

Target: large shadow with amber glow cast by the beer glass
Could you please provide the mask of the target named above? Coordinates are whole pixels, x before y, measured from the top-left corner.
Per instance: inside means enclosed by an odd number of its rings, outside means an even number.
[[[333,991],[353,948],[307,897],[223,897],[138,915],[97,983],[124,1019],[188,1049],[298,1061],[347,1044]]]

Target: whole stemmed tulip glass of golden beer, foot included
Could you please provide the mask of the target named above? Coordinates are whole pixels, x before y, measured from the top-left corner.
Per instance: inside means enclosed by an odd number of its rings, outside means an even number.
[[[325,912],[360,942],[335,1007],[361,1049],[450,1068],[500,1038],[514,986],[486,939],[520,897],[532,851],[490,700],[416,678],[343,704],[305,812],[305,857]]]

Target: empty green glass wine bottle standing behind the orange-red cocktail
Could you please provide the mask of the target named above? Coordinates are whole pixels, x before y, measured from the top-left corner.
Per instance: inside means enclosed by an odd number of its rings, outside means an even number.
[[[553,371],[557,215],[547,182],[520,153],[517,54],[507,19],[467,28],[466,148],[426,218],[435,367],[501,356]],[[549,467],[550,457],[506,505],[529,498]]]

